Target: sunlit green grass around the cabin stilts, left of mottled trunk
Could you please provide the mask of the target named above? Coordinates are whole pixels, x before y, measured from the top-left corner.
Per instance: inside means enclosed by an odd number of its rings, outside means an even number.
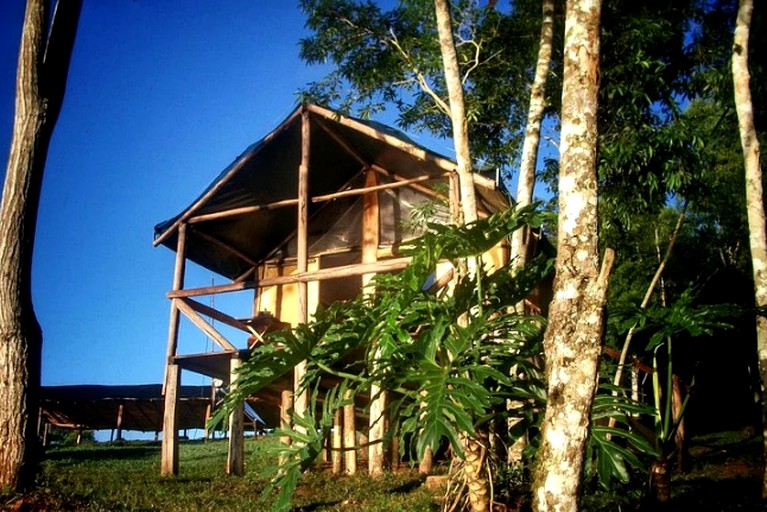
[[[0,501],[3,510],[72,511],[268,511],[260,500],[264,468],[275,464],[269,438],[245,444],[246,475],[228,477],[226,441],[182,442],[179,475],[160,478],[160,444],[126,442],[52,448],[46,454],[39,490]],[[415,471],[380,480],[312,471],[299,483],[293,504],[304,511],[437,511]]]

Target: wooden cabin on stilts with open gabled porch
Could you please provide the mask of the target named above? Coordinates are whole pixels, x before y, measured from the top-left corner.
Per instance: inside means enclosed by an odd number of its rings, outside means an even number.
[[[418,236],[411,212],[435,204],[431,221],[450,221],[458,209],[456,164],[386,126],[316,106],[299,106],[262,140],[227,167],[188,208],[155,227],[154,244],[176,251],[170,299],[162,474],[178,473],[178,389],[182,371],[237,385],[237,368],[264,334],[311,321],[322,304],[351,299],[370,278],[404,268],[399,245]],[[508,197],[493,179],[475,176],[480,215],[508,208]],[[508,249],[487,258],[501,265]],[[187,287],[185,268],[194,262],[228,280]],[[445,270],[447,271],[447,270]],[[203,297],[243,292],[246,318],[206,305]],[[223,308],[222,308],[223,309]],[[179,324],[201,329],[217,351],[183,354]],[[241,339],[224,335],[232,328]],[[247,345],[246,342],[247,341]],[[306,393],[295,393],[305,366],[254,397],[263,418],[290,425],[303,414]],[[354,397],[339,411],[328,444],[334,471],[351,474],[368,459],[368,471],[384,469],[386,390]],[[242,413],[229,421],[227,471],[244,471]],[[369,449],[361,449],[367,438]],[[364,444],[363,444],[364,446]],[[368,453],[364,453],[368,452]],[[334,454],[334,455],[333,455]]]

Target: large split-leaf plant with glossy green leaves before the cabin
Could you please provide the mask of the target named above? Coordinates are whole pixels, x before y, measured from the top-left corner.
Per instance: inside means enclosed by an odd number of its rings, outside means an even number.
[[[289,510],[300,475],[320,455],[336,411],[352,403],[350,396],[369,395],[373,383],[391,397],[385,442],[398,437],[400,455],[410,460],[445,446],[462,458],[462,438],[484,439],[491,430],[501,434],[501,443],[513,441],[497,428],[505,424],[507,400],[524,404],[514,410],[524,421],[511,435],[536,424],[545,406],[545,320],[518,314],[514,305],[552,272],[553,260],[541,254],[512,272],[511,264],[483,265],[482,255],[522,225],[540,223],[541,215],[526,207],[465,226],[429,224],[402,248],[412,256],[402,272],[377,275],[356,299],[317,311],[309,324],[271,333],[252,351],[212,422],[307,361],[300,388],[310,391],[310,407],[304,416],[293,414],[292,429],[276,432],[290,443],[281,446],[281,464],[272,468],[263,494],[273,510]],[[478,261],[477,271],[435,291],[437,264],[450,261],[457,268],[466,258]]]

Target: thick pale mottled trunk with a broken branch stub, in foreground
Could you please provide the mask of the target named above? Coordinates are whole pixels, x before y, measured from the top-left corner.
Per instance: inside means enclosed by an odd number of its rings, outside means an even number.
[[[599,269],[597,91],[599,0],[567,3],[562,90],[559,228],[554,299],[544,334],[547,406],[533,509],[577,511],[613,253]]]

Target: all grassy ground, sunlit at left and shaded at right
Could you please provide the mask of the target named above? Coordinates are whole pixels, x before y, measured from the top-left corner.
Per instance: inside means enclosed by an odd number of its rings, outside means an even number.
[[[226,441],[182,442],[180,474],[160,478],[160,444],[96,443],[51,448],[46,453],[40,484],[25,495],[0,494],[0,510],[34,511],[269,511],[260,494],[265,468],[276,458],[271,438],[248,439],[246,475],[227,477]],[[696,512],[758,511],[762,462],[761,435],[752,431],[709,434],[693,438],[684,474],[675,475],[672,499],[662,510]],[[584,489],[583,512],[656,511],[642,495],[646,477],[630,489],[603,492]],[[500,491],[500,489],[497,489]],[[295,512],[437,512],[438,497],[422,485],[414,470],[371,479],[313,470],[299,482]]]

